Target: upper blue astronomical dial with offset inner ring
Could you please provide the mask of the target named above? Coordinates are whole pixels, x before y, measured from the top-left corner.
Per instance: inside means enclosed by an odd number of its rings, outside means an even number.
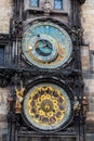
[[[30,64],[56,68],[69,60],[72,43],[65,29],[53,23],[41,22],[25,30],[23,52]]]

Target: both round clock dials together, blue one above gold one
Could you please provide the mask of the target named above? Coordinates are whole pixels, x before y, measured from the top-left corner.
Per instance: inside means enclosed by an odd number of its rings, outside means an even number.
[[[49,133],[65,128],[71,121],[72,92],[59,80],[59,75],[53,77],[53,69],[56,72],[56,68],[68,65],[72,48],[68,31],[48,18],[25,27],[22,40],[24,60],[37,69],[52,72],[51,77],[45,72],[25,92],[23,117],[30,128]]]

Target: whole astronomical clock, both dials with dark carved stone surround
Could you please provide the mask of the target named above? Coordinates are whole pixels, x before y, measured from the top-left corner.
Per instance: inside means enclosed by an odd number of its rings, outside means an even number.
[[[79,0],[69,1],[73,7],[69,18],[68,11],[57,10],[59,2],[52,8],[45,0],[40,9],[33,1],[32,8],[27,3],[16,0],[11,20],[8,141],[55,132],[57,137],[77,136],[80,141],[84,106]]]

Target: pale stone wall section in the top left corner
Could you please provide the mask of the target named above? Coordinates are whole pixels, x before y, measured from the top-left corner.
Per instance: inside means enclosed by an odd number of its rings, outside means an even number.
[[[0,0],[0,33],[9,34],[12,0]]]

